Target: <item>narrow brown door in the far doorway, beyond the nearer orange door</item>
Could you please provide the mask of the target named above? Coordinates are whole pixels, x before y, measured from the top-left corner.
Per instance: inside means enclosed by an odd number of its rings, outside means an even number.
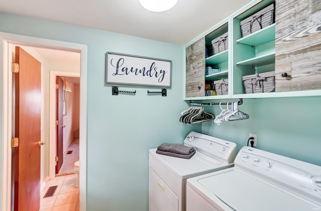
[[[64,151],[63,151],[63,123],[64,123],[64,114],[63,114],[63,94],[64,94],[64,81],[61,77],[56,76],[56,84],[58,84],[58,88],[56,88],[56,120],[58,120],[57,128],[56,128],[56,156],[58,156],[58,160],[56,162],[56,173],[59,172],[62,163],[64,161]]]

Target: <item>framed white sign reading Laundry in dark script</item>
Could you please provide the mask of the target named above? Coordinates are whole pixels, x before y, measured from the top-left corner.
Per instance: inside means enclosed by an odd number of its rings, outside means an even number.
[[[106,83],[171,86],[171,60],[106,52],[106,62]]]

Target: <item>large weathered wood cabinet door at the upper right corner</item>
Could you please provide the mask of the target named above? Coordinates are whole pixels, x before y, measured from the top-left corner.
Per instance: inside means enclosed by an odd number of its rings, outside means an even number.
[[[321,89],[321,0],[275,3],[275,90]]]

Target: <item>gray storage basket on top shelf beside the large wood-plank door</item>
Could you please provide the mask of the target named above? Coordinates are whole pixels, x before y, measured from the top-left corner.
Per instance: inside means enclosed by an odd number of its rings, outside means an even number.
[[[266,6],[255,14],[241,20],[242,37],[267,27],[275,22],[274,3]]]

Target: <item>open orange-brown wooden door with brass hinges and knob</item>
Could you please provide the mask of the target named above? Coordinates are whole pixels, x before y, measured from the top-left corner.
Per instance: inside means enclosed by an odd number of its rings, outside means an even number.
[[[40,208],[41,63],[16,46],[14,210]]]

